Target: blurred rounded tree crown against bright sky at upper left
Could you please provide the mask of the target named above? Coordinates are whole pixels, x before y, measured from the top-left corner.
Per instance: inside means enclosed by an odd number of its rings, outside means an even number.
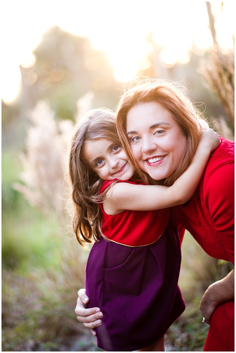
[[[88,38],[55,26],[34,55],[34,65],[20,66],[24,111],[47,98],[58,118],[73,120],[77,100],[88,91],[94,93],[93,108],[116,106],[121,84],[113,77],[107,53],[93,49]]]

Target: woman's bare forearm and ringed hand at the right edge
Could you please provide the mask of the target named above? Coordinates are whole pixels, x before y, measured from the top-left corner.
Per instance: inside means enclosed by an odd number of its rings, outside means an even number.
[[[223,280],[210,285],[200,301],[200,310],[205,317],[206,323],[210,325],[211,317],[217,307],[225,301],[234,299],[234,270]]]

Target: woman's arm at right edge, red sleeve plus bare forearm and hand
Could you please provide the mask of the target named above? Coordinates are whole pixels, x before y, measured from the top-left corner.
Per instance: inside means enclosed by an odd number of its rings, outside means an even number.
[[[226,259],[234,263],[234,163],[225,164],[211,174],[205,184],[205,206],[225,249]],[[234,299],[234,270],[213,283],[200,302],[200,309],[210,324],[217,306]]]

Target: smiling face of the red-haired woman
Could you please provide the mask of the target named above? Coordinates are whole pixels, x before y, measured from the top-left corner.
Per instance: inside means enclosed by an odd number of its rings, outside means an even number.
[[[126,131],[140,169],[155,180],[175,172],[187,138],[169,110],[156,102],[134,106],[127,114]]]

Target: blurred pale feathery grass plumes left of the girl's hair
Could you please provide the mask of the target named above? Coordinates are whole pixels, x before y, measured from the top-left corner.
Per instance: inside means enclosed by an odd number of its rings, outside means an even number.
[[[32,206],[44,214],[56,213],[64,219],[63,164],[72,121],[63,120],[56,126],[54,112],[44,101],[37,103],[29,115],[32,126],[26,137],[26,155],[20,158],[24,165],[21,179],[25,183],[14,188],[23,193]]]

